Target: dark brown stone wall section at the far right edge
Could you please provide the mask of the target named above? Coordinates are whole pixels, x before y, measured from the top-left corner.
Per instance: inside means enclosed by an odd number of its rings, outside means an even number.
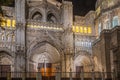
[[[113,59],[112,59],[112,70],[119,72],[120,71],[120,27],[117,26],[111,31],[111,43],[110,50],[112,51]],[[120,76],[118,74],[117,76]]]

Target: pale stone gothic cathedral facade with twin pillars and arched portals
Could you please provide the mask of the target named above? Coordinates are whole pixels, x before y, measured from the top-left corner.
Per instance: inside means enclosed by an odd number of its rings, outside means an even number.
[[[38,72],[47,65],[53,72],[75,72],[81,66],[91,71],[94,12],[86,16],[91,22],[82,26],[86,18],[76,16],[73,21],[69,1],[15,0],[15,7],[2,9],[1,66],[10,65],[13,72]],[[81,26],[82,32],[77,33],[73,26]]]

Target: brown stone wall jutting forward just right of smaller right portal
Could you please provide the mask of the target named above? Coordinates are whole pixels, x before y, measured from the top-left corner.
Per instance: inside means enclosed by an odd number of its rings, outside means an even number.
[[[103,31],[99,41],[93,45],[93,55],[94,58],[97,57],[98,68],[100,71],[110,72],[110,33],[108,31]],[[96,62],[96,61],[95,61]],[[109,65],[109,68],[107,67]]]

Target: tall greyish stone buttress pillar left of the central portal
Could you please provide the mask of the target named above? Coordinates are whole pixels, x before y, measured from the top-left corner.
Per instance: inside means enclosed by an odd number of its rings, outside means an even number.
[[[15,0],[16,59],[15,71],[26,71],[25,50],[25,0]]]

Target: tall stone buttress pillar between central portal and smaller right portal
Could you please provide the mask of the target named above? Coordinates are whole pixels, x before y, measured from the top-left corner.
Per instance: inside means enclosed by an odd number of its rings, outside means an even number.
[[[73,54],[73,33],[72,33],[72,24],[73,24],[73,5],[72,2],[63,1],[62,5],[62,19],[63,25],[65,29],[65,33],[63,35],[63,44],[64,44],[64,60],[63,61],[63,70],[64,72],[70,72],[71,69],[71,57]],[[68,77],[69,74],[65,74],[64,76]]]

